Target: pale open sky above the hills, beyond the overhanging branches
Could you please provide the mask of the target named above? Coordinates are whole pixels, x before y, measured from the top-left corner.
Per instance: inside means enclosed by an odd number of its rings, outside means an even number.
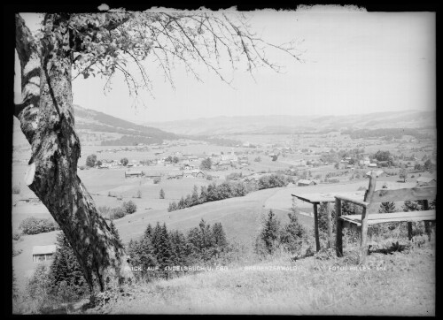
[[[269,57],[285,65],[284,74],[259,69],[255,82],[241,69],[233,74],[235,88],[201,66],[197,68],[204,83],[177,67],[175,90],[158,69],[147,65],[153,97],[143,94],[134,101],[120,76],[106,95],[105,80],[79,77],[73,82],[74,103],[137,123],[435,110],[434,13],[326,11],[323,7],[250,15],[253,29],[268,42],[298,40],[304,63],[269,52]],[[25,19],[31,20],[29,15]]]

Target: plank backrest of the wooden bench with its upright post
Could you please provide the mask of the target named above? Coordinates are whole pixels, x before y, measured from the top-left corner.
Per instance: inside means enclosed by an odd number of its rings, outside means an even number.
[[[369,179],[369,189],[365,195],[365,202],[404,202],[416,200],[435,199],[437,196],[437,187],[405,187],[400,189],[377,189],[376,174],[371,172]]]

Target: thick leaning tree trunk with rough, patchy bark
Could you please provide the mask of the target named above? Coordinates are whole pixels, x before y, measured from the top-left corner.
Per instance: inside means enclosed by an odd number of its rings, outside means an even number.
[[[46,15],[45,25],[52,29],[43,37],[39,61],[36,61],[39,57],[36,46],[27,41],[29,29],[20,19],[16,44],[22,72],[23,103],[16,116],[32,144],[27,185],[66,234],[91,293],[97,288],[103,291],[105,281],[111,282],[106,287],[113,286],[120,284],[122,278],[132,278],[132,274],[124,268],[128,266],[124,249],[117,244],[77,176],[81,146],[74,131],[69,29],[61,32],[60,37],[52,36],[56,28],[66,25],[67,17]],[[31,76],[29,72],[32,72]],[[37,91],[35,86],[38,83],[40,89]]]

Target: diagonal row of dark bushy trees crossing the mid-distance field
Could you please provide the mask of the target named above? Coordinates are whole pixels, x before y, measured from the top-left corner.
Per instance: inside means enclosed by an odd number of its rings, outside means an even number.
[[[170,202],[167,211],[181,210],[205,202],[214,202],[237,196],[244,196],[256,190],[268,189],[271,187],[285,187],[290,182],[294,182],[291,177],[285,177],[283,174],[273,173],[261,177],[257,182],[225,181],[220,185],[216,185],[213,182],[207,187],[202,186],[199,194],[197,186],[194,186],[192,194],[188,194],[185,198],[182,197],[179,202]]]

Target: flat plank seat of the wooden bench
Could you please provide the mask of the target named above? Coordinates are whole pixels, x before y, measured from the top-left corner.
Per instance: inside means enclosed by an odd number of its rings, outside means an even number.
[[[361,226],[361,215],[341,216],[339,218],[345,223]],[[388,222],[416,222],[433,220],[435,220],[435,210],[374,213],[369,215],[368,225],[384,224]]]

